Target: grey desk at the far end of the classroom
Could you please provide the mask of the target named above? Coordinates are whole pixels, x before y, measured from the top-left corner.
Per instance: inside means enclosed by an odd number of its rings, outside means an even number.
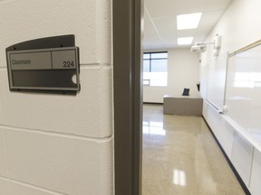
[[[202,116],[203,99],[199,97],[164,96],[163,114],[180,116]]]

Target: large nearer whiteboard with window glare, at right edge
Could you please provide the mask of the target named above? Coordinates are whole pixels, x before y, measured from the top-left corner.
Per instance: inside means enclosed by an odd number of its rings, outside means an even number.
[[[229,58],[226,88],[227,116],[261,140],[261,46]]]

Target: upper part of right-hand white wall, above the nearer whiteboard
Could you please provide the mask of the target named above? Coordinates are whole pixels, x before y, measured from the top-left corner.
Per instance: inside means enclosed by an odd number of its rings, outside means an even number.
[[[207,40],[213,41],[212,38],[217,33],[222,35],[220,53],[237,51],[260,40],[261,26],[258,22],[260,5],[259,0],[234,0],[213,31],[209,33]]]

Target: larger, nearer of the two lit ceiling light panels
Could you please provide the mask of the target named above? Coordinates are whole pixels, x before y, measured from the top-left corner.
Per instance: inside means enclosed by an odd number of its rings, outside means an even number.
[[[198,28],[198,23],[200,21],[201,15],[202,13],[177,15],[178,30]]]

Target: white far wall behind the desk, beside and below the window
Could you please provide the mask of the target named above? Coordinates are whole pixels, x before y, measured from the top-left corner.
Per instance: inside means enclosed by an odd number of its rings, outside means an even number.
[[[190,96],[198,96],[199,55],[189,49],[169,50],[168,86],[143,87],[143,102],[163,103],[163,96],[181,96],[184,88],[190,88]]]

